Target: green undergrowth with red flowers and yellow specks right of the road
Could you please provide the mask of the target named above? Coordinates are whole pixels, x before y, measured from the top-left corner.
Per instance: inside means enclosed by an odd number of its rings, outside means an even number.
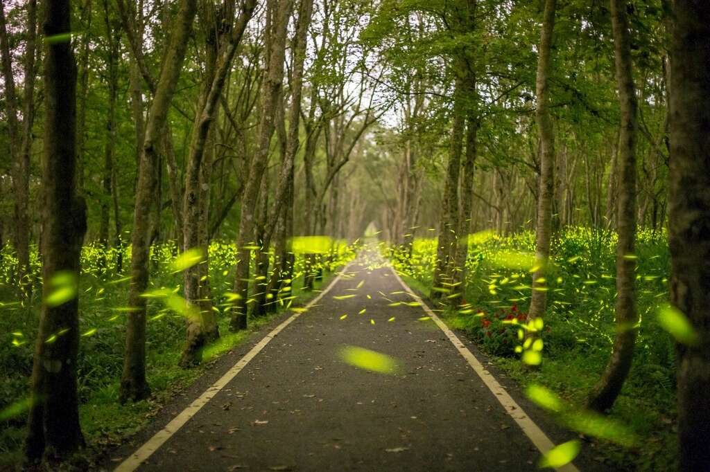
[[[473,339],[499,369],[527,389],[528,396],[530,386],[542,386],[559,395],[569,408],[580,408],[604,370],[616,333],[616,233],[565,227],[554,237],[552,263],[541,288],[547,291],[550,303],[540,330],[542,356],[535,369],[520,360],[520,353],[525,355],[529,350],[521,327],[528,322],[535,235],[528,231],[502,236],[484,231],[470,235],[467,242],[464,296],[458,298],[452,289],[454,302],[447,303],[449,294],[444,293],[444,301],[437,307],[444,320]],[[428,294],[436,245],[434,238],[417,239],[411,255],[403,247],[384,243],[381,250],[410,286]],[[614,434],[607,440],[586,434],[585,447],[593,448],[595,460],[624,470],[674,470],[674,340],[657,320],[657,313],[668,303],[667,233],[640,230],[636,256],[640,325],[633,367],[608,413],[610,420],[636,439],[633,444],[623,444]],[[576,429],[573,424],[567,426]]]

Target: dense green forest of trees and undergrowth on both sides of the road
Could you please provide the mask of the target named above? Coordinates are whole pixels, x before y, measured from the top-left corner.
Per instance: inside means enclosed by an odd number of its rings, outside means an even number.
[[[677,162],[702,152],[691,131],[706,123],[681,129],[702,123],[682,116],[702,94],[679,95],[675,121],[670,103],[673,70],[675,90],[691,76],[708,88],[707,51],[681,31],[696,28],[707,48],[707,26],[694,20],[706,7],[0,6],[0,422],[9,426],[0,447],[12,460],[26,425],[31,457],[83,444],[80,414],[92,438],[133,431],[136,414],[119,413],[115,400],[140,403],[195,378],[199,369],[182,368],[204,366],[252,323],[295,306],[375,237],[521,383],[596,412],[621,395],[613,420],[628,434],[582,428],[601,441],[600,461],[666,468],[681,457],[692,470],[708,460],[696,447],[708,406],[687,394],[707,384],[707,359],[699,383],[677,383],[689,372],[683,356],[707,352],[697,314],[707,295],[702,283],[668,289],[678,286],[672,254],[687,255],[676,269],[703,255],[688,255],[682,235],[692,231],[673,232],[672,210],[707,210],[706,192],[686,206],[672,198],[702,188],[706,159],[671,175],[672,123]],[[686,252],[669,250],[669,228],[671,249]],[[706,229],[697,231],[690,240],[704,247]],[[688,291],[692,303],[682,301]],[[511,314],[529,329],[509,330]],[[44,378],[38,359],[67,353],[78,366]],[[563,365],[578,382],[560,378]],[[82,410],[48,419],[43,405],[60,404],[45,403],[52,385]],[[689,405],[702,414],[691,420]],[[116,423],[106,426],[109,417]],[[76,433],[54,444],[60,423]],[[651,442],[631,446],[629,435]]]

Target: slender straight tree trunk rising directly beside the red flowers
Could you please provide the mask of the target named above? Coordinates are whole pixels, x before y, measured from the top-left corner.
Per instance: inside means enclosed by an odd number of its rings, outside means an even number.
[[[550,257],[552,237],[552,197],[555,193],[555,133],[552,130],[548,82],[550,77],[550,50],[552,33],[555,30],[555,10],[557,0],[545,0],[545,16],[542,20],[540,48],[537,57],[537,79],[535,95],[537,110],[535,118],[540,133],[540,192],[537,195],[537,222],[535,224],[535,260],[538,269],[532,275],[532,298],[530,319],[545,314],[547,289],[540,280],[545,277],[545,266]]]

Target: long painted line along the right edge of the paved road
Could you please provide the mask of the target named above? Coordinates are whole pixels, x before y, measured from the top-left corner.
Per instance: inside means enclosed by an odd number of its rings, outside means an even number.
[[[506,389],[503,388],[500,383],[498,383],[496,378],[493,377],[493,374],[491,374],[486,370],[486,368],[484,368],[479,359],[476,359],[476,356],[474,356],[474,354],[469,351],[469,348],[467,348],[466,345],[461,342],[461,339],[459,339],[459,337],[457,337],[457,335],[455,335],[454,332],[449,329],[449,327],[441,320],[441,318],[435,315],[435,313],[431,310],[431,308],[429,308],[426,303],[424,303],[420,296],[417,296],[417,294],[414,293],[406,283],[404,283],[397,271],[395,271],[392,266],[389,267],[392,273],[395,274],[397,280],[400,282],[400,285],[403,286],[405,291],[407,291],[407,293],[409,293],[415,301],[420,303],[422,309],[427,313],[427,315],[429,315],[432,320],[434,320],[437,326],[444,332],[444,335],[446,335],[449,338],[449,341],[454,344],[454,347],[458,349],[459,354],[461,354],[461,356],[466,359],[466,362],[469,363],[471,369],[474,369],[474,371],[478,374],[481,380],[484,381],[486,387],[488,387],[488,390],[491,390],[493,396],[498,399],[498,402],[500,402],[501,405],[503,405],[503,408],[506,410],[506,412],[508,412],[508,415],[510,415],[510,417],[512,417],[513,420],[518,423],[520,429],[523,429],[525,436],[527,436],[530,441],[532,441],[532,444],[535,444],[535,447],[537,447],[537,449],[539,449],[542,454],[547,454],[550,449],[555,447],[555,444],[550,441],[550,438],[547,437],[545,432],[542,432],[542,429],[540,429],[540,427],[537,426],[534,421],[532,421],[532,419],[525,413],[523,408],[520,408],[520,405],[518,405],[518,403],[513,400],[510,395],[508,395]],[[556,470],[561,472],[579,472],[579,469],[574,466],[573,463],[568,463],[567,465],[558,467]]]

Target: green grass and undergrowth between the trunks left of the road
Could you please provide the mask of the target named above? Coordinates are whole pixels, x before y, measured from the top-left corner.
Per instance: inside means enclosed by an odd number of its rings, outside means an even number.
[[[224,292],[231,291],[234,280],[234,245],[214,242],[210,247],[210,285],[213,302],[219,309]],[[302,290],[302,259],[297,259],[293,281],[293,299],[290,306],[303,305],[315,297],[324,283],[334,276],[334,269],[352,257],[352,247],[343,249],[339,257],[324,262],[323,281],[316,282],[315,291]],[[0,412],[18,405],[28,393],[28,377],[32,368],[33,344],[38,326],[39,296],[41,288],[35,288],[33,296],[25,304],[13,301],[15,296],[11,274],[12,254],[1,254],[10,264],[0,271],[0,300],[4,300],[4,313],[0,318]],[[160,300],[148,303],[146,376],[153,395],[147,400],[121,405],[118,403],[119,378],[123,361],[125,336],[124,312],[121,307],[128,298],[127,281],[116,271],[116,253],[107,254],[109,264],[99,269],[97,260],[101,249],[87,246],[82,252],[82,276],[80,280],[80,331],[89,333],[80,339],[77,373],[80,393],[80,420],[87,450],[81,455],[80,468],[90,468],[92,460],[104,454],[107,446],[120,444],[127,437],[140,431],[177,393],[185,390],[204,371],[209,369],[219,356],[238,347],[249,339],[251,333],[283,316],[288,311],[284,303],[271,315],[250,318],[249,330],[229,332],[229,316],[221,312],[217,317],[221,337],[204,348],[202,364],[192,369],[178,366],[185,340],[185,321],[182,315],[163,305]],[[124,267],[129,264],[130,252],[126,251]],[[179,287],[181,275],[172,271],[175,249],[172,245],[153,248],[151,266],[151,289]],[[33,270],[38,274],[39,263],[33,254]],[[20,410],[5,421],[0,421],[0,469],[11,468],[21,460],[21,446],[25,437],[26,411]]]

